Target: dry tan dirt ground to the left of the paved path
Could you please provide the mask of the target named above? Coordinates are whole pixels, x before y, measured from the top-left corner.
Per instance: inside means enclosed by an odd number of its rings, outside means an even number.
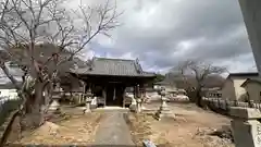
[[[94,135],[102,114],[83,114],[79,109],[63,109],[63,114],[50,119],[33,132],[25,132],[18,145],[86,145],[94,142]]]

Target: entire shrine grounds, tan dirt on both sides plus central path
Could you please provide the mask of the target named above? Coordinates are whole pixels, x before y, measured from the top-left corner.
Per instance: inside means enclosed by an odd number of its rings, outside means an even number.
[[[103,145],[142,146],[142,140],[150,139],[163,147],[234,147],[229,118],[194,103],[169,102],[175,118],[158,121],[153,113],[159,107],[159,102],[151,102],[145,105],[142,113],[104,109],[85,114],[82,108],[63,107],[62,114],[52,117],[39,128],[23,133],[20,139],[14,132],[10,142],[54,146],[97,145],[98,140],[104,140]],[[13,127],[15,131],[15,124]],[[113,140],[107,140],[108,137]]]

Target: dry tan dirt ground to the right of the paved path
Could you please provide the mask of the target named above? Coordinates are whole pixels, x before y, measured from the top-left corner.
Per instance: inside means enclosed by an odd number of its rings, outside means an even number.
[[[141,145],[144,139],[150,139],[164,147],[234,147],[229,137],[213,135],[216,130],[229,128],[228,118],[199,109],[191,103],[171,103],[169,106],[176,114],[175,119],[157,121],[152,113],[159,106],[160,103],[145,106],[150,109],[147,114],[127,115],[137,145]]]

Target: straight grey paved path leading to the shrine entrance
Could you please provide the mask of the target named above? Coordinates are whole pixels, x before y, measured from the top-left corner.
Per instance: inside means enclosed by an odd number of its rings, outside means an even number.
[[[102,146],[135,146],[128,126],[123,118],[123,110],[104,112],[96,134],[95,145]]]

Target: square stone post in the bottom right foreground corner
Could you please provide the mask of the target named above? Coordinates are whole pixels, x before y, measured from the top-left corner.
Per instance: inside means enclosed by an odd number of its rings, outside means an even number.
[[[236,147],[261,146],[261,113],[252,108],[231,108],[233,136]]]

